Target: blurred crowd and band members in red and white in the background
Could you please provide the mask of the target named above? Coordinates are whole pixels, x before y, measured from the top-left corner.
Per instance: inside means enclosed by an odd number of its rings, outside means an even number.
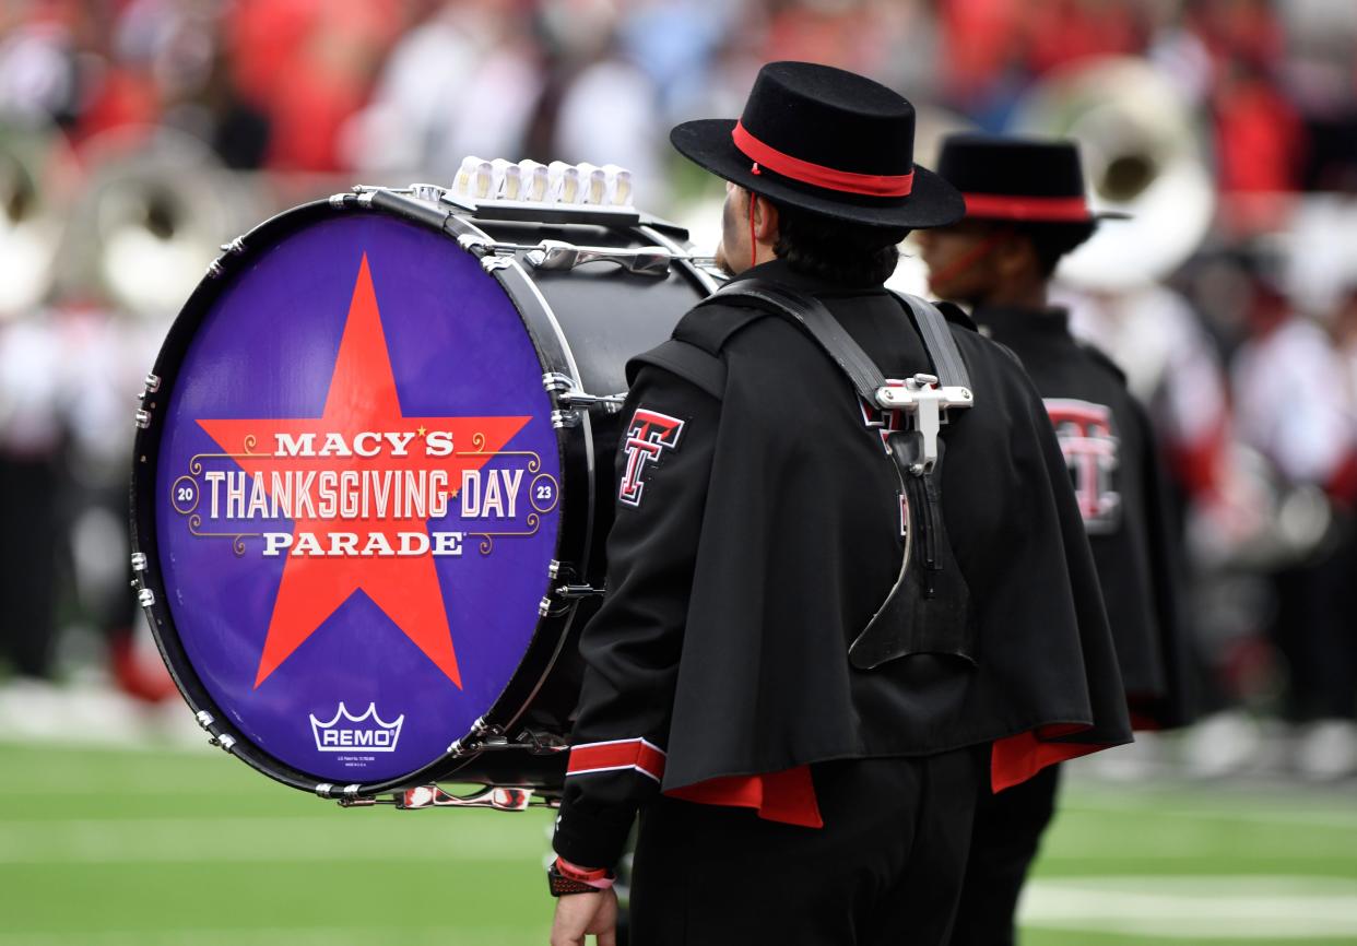
[[[1061,296],[1181,499],[1209,711],[1186,764],[1255,764],[1274,727],[1282,768],[1354,775],[1354,53],[1331,0],[5,0],[0,687],[92,664],[171,692],[126,593],[130,395],[217,243],[467,155],[620,164],[710,228],[668,129],[795,58],[905,92],[923,163],[951,129],[1080,140],[1134,220]]]

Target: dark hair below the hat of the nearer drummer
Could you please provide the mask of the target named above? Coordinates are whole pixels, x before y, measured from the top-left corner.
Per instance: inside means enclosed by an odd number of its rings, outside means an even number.
[[[898,244],[909,236],[900,227],[868,227],[775,204],[778,243],[772,251],[798,273],[826,282],[881,285],[896,271]]]

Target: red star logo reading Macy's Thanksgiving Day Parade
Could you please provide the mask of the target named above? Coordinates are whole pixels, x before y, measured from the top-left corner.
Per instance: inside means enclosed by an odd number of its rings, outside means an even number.
[[[357,590],[460,687],[434,559],[556,508],[541,457],[506,449],[532,419],[406,417],[364,257],[320,417],[198,419],[220,452],[171,485],[191,535],[284,562],[255,687]]]

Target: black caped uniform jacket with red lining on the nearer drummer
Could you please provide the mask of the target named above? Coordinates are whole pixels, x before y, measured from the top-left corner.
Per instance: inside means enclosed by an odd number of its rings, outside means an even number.
[[[829,286],[782,261],[748,276],[816,295],[886,377],[930,371],[881,286]],[[858,670],[848,645],[904,550],[881,418],[801,328],[749,316],[693,309],[674,331],[687,341],[631,365],[607,596],[581,638],[556,821],[556,852],[582,866],[613,863],[661,789],[987,742],[999,789],[1130,738],[1065,463],[1016,360],[953,326],[974,407],[943,429],[942,505],[978,665],[919,654]],[[719,352],[722,388],[660,366],[688,342]]]

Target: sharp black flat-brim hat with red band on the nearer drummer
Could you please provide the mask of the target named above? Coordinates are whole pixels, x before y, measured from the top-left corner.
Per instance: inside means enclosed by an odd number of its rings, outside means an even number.
[[[814,62],[759,71],[740,119],[669,133],[696,164],[778,204],[874,227],[957,223],[961,194],[915,164],[915,107],[885,86]]]

